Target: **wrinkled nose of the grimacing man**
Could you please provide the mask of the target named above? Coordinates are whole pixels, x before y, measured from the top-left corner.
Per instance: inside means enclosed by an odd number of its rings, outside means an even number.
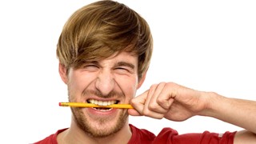
[[[95,83],[97,90],[106,96],[114,90],[114,85],[114,76],[111,74],[110,70],[102,70],[99,72]]]

